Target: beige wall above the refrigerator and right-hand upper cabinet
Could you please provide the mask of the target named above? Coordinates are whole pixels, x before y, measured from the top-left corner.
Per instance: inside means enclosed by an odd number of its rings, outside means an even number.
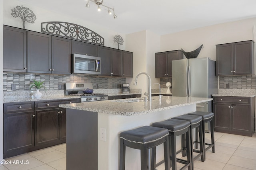
[[[204,45],[198,57],[210,57],[216,61],[217,44],[253,39],[252,27],[256,18],[240,20],[161,36],[161,51],[183,49],[186,52]]]

